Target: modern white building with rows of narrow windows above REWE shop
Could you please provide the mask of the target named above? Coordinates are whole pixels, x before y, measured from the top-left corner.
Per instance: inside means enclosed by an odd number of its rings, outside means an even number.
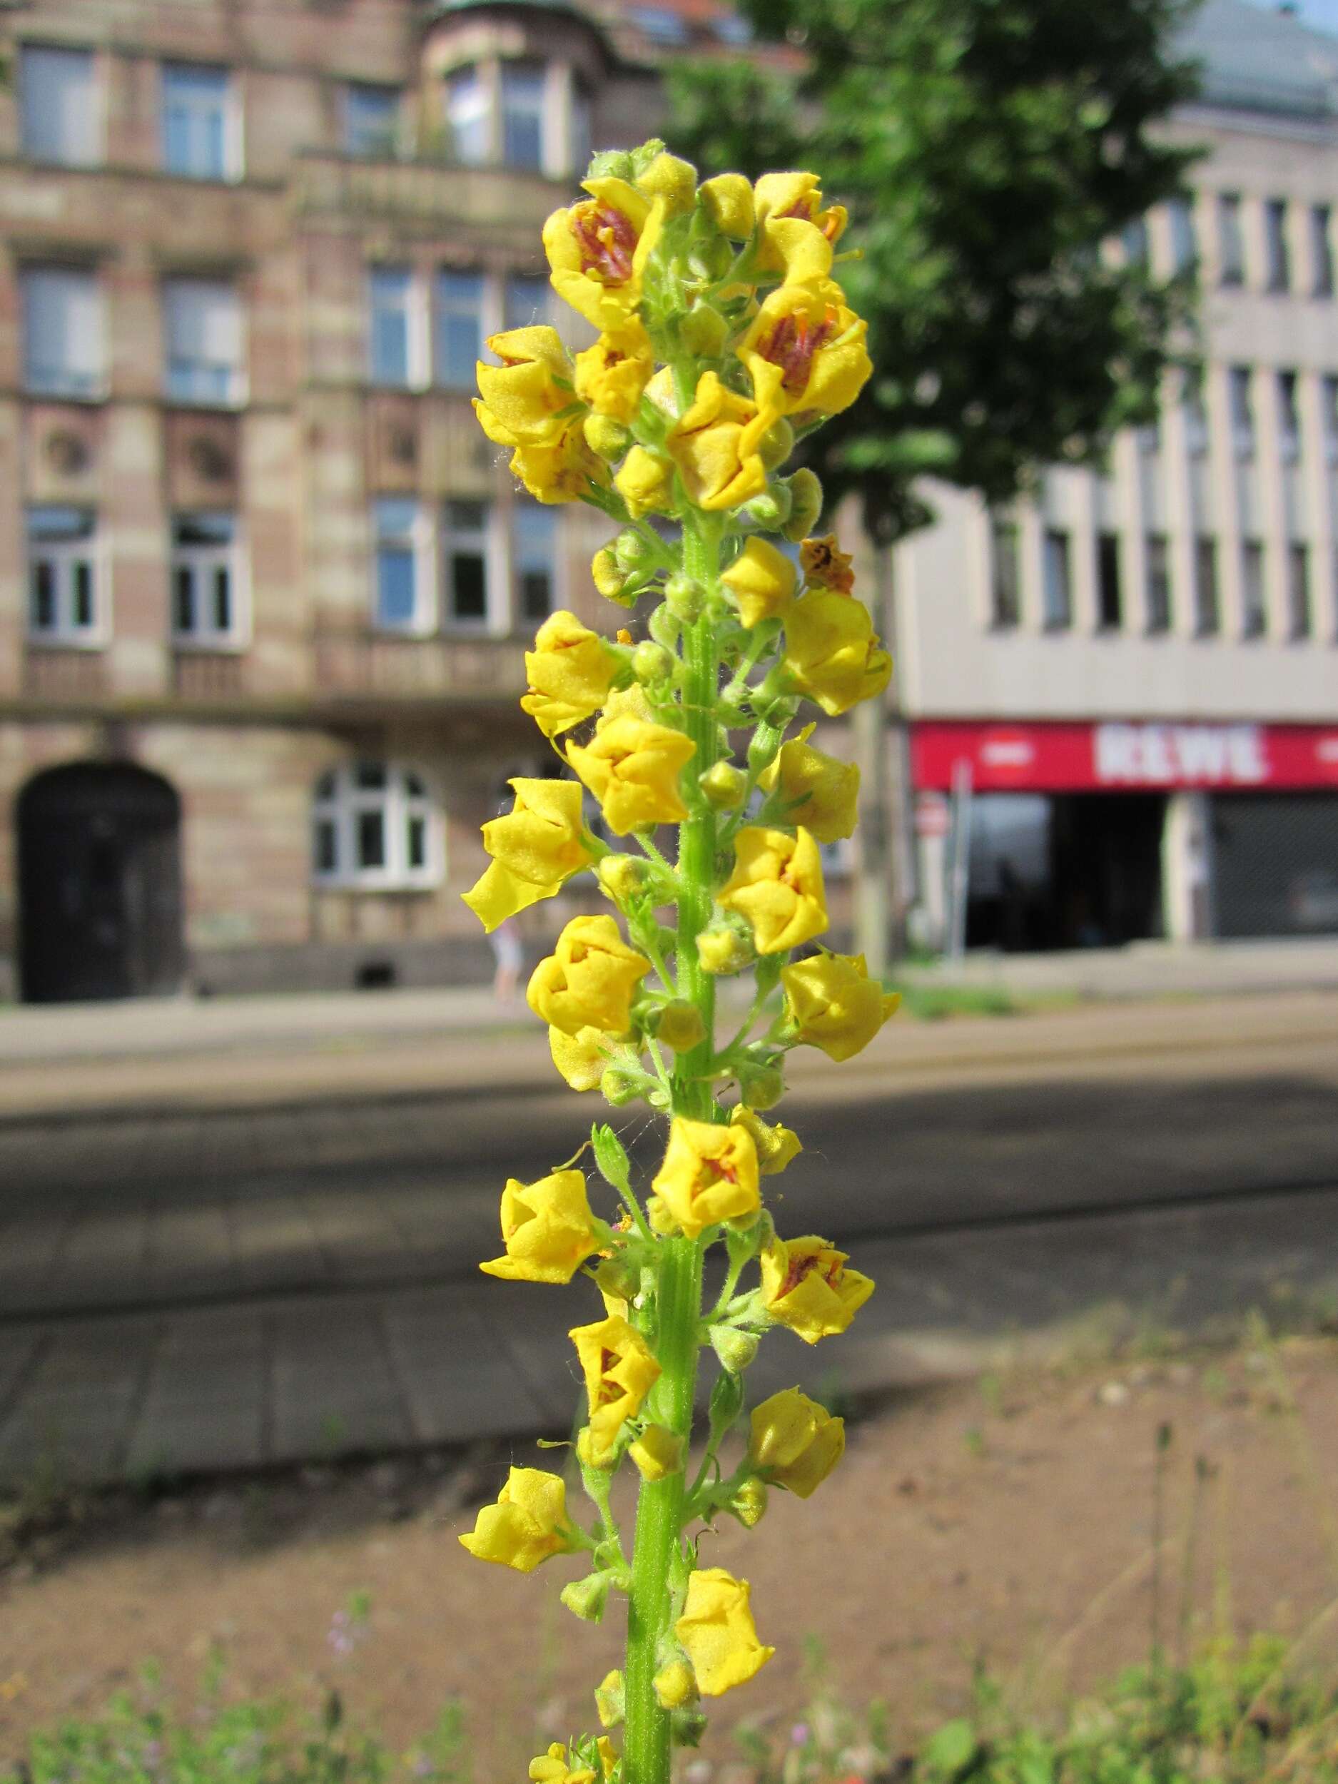
[[[1338,931],[1338,37],[1243,0],[1190,34],[1193,202],[1111,252],[1197,262],[1202,380],[1104,475],[899,551],[913,896],[967,944]]]

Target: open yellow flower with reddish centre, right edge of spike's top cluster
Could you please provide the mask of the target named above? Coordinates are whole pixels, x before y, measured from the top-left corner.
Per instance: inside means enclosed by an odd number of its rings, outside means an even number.
[[[840,285],[785,284],[769,293],[739,343],[753,396],[781,414],[835,416],[872,376],[869,325],[846,307]]]

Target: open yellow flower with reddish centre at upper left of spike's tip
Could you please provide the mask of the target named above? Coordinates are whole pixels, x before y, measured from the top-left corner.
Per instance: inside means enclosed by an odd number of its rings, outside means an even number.
[[[557,294],[603,332],[626,328],[640,303],[646,262],[660,239],[664,200],[626,180],[585,180],[591,194],[544,223]]]

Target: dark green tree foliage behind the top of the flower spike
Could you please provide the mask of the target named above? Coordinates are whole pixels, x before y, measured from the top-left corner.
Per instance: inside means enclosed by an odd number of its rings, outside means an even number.
[[[924,473],[1006,501],[1151,419],[1193,280],[1101,248],[1195,159],[1160,130],[1195,86],[1172,48],[1186,0],[740,11],[792,54],[680,62],[673,146],[705,169],[810,166],[851,209],[842,246],[862,259],[838,277],[876,376],[822,430],[831,500],[858,494],[890,542],[931,519]]]

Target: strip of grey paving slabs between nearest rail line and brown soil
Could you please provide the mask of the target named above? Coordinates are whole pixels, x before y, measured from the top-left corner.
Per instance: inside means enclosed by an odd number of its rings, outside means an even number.
[[[856,1247],[851,1331],[780,1333],[755,1395],[867,1393],[1042,1359],[1115,1333],[1338,1306],[1338,1185],[1254,1201],[1006,1222]],[[0,1479],[145,1479],[569,1433],[585,1295],[496,1281],[0,1326]],[[705,1383],[703,1383],[705,1390]]]

